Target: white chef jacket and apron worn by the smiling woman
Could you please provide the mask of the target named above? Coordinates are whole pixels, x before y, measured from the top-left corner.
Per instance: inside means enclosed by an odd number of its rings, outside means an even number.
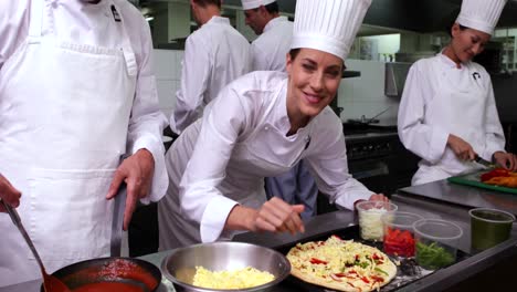
[[[287,75],[257,71],[224,87],[166,155],[169,189],[158,204],[160,249],[228,239],[236,204],[260,208],[264,177],[304,159],[331,202],[354,209],[372,192],[348,173],[342,125],[326,107],[292,136]]]

